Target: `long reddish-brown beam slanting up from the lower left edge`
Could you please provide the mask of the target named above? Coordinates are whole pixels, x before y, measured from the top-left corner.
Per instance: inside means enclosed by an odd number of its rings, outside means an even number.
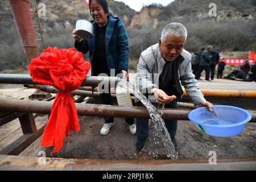
[[[30,146],[31,143],[33,143],[43,134],[45,127],[46,125],[36,131],[36,133],[24,134],[22,137],[16,139],[13,143],[9,144],[9,146],[1,150],[0,155],[19,155],[23,150]]]

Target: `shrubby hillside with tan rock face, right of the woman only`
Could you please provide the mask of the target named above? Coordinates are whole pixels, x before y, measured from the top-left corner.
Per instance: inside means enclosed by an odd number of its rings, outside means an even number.
[[[216,17],[208,15],[211,2],[217,5]],[[219,51],[255,51],[255,18],[256,1],[253,0],[179,0],[166,7],[144,7],[127,29],[133,52],[141,51],[142,45],[145,48],[156,43],[162,28],[170,22],[180,22],[187,27],[185,48],[190,52],[197,51],[201,44],[212,44]]]

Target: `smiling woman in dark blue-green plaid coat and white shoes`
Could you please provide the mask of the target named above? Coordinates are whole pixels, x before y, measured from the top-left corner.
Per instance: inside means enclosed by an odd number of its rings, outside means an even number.
[[[93,21],[93,38],[86,40],[76,34],[73,30],[73,38],[76,39],[75,48],[86,53],[89,51],[92,64],[92,76],[105,73],[110,76],[110,69],[123,74],[128,79],[129,44],[125,27],[119,18],[113,18],[109,13],[106,0],[89,0],[90,14]],[[110,89],[108,93],[101,93],[102,104],[110,105]],[[126,118],[126,123],[132,134],[136,132],[133,118]],[[105,124],[101,128],[101,135],[109,133],[110,127],[114,125],[114,118],[105,118]]]

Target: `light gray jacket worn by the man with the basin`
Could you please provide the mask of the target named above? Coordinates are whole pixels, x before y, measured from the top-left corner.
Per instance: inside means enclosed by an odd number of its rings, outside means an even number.
[[[159,44],[155,44],[141,53],[136,76],[136,85],[140,90],[150,92],[152,88],[158,88],[159,76],[166,63],[158,46]],[[184,57],[184,61],[180,64],[178,71],[180,84],[184,86],[193,104],[200,104],[206,100],[191,70],[191,54],[183,49],[181,56]]]

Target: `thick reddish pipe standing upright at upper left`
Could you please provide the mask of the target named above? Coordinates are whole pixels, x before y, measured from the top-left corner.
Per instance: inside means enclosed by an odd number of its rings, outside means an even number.
[[[36,43],[35,30],[30,13],[30,1],[9,0],[20,39],[22,40],[27,63],[38,57],[38,45]]]

